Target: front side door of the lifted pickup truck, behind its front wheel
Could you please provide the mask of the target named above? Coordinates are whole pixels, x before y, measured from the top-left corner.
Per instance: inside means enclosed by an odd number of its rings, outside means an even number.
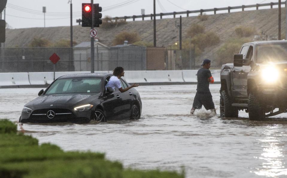
[[[242,71],[240,74],[240,92],[242,97],[248,98],[247,96],[247,75],[251,71],[251,61],[253,60],[253,44],[250,44],[248,48],[248,52],[246,54],[246,57],[243,58],[243,66]]]

